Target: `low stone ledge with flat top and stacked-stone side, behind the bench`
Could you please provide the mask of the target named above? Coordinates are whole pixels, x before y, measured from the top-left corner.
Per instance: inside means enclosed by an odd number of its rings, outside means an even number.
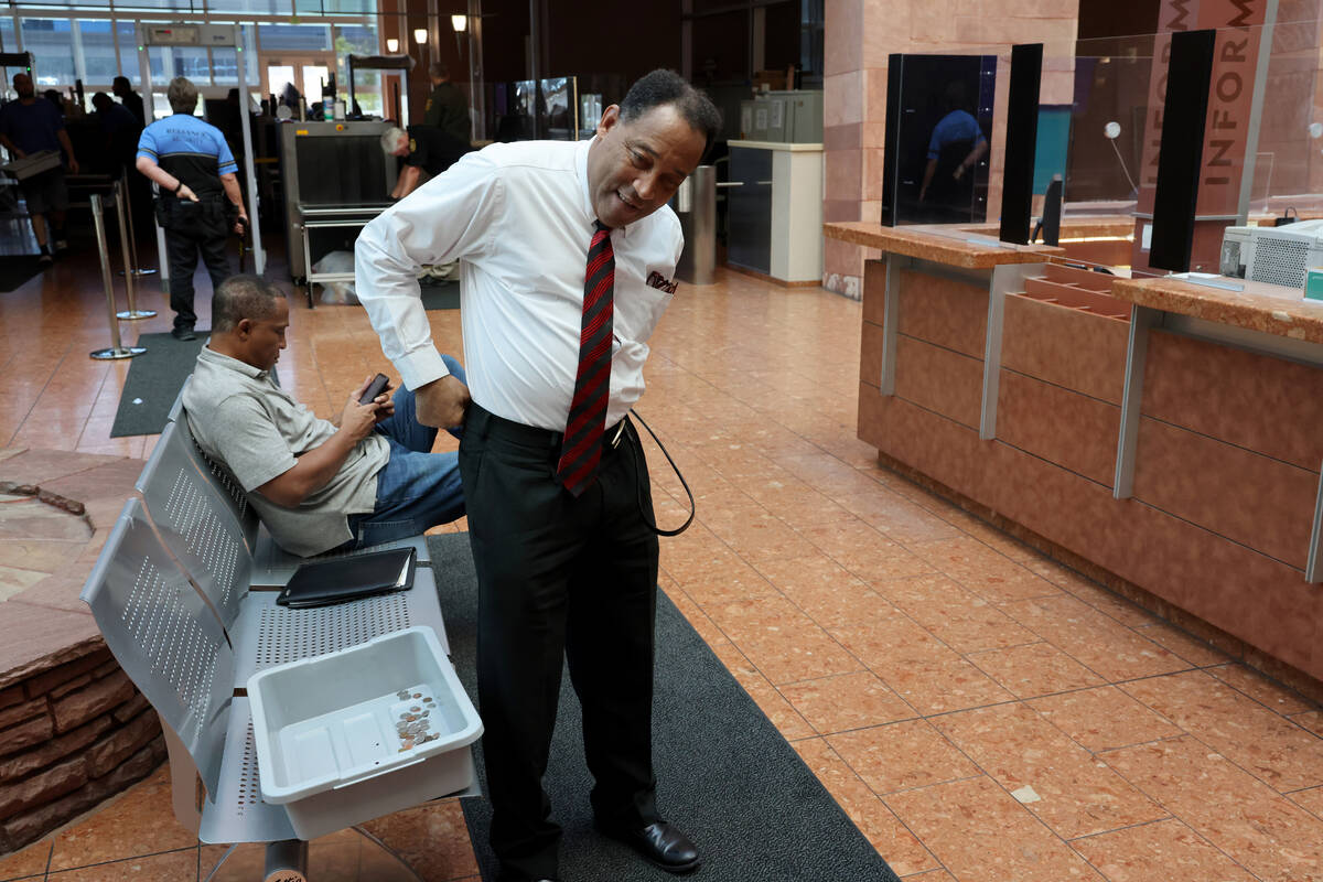
[[[123,456],[0,450],[0,854],[165,758],[156,711],[78,596],[142,468]]]

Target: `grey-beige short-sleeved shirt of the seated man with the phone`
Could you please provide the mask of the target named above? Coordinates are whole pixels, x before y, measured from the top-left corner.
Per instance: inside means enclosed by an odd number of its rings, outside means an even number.
[[[335,477],[298,508],[277,505],[253,492],[336,432],[335,424],[277,386],[267,370],[202,346],[184,393],[184,410],[198,446],[233,472],[273,538],[287,551],[320,554],[349,541],[348,516],[372,512],[376,505],[377,472],[390,459],[389,443],[376,432],[359,442]]]

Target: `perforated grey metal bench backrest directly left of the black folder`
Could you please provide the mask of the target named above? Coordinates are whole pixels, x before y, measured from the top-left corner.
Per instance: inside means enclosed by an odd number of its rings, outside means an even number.
[[[249,590],[253,551],[234,508],[192,455],[187,431],[184,421],[165,426],[136,487],[165,547],[229,629]]]

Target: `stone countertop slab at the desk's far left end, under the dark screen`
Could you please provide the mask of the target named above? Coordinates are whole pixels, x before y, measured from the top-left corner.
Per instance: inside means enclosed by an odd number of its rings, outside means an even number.
[[[958,226],[882,226],[851,221],[823,223],[823,234],[853,245],[881,249],[888,254],[922,258],[970,270],[990,270],[1004,263],[1043,263],[1064,249],[1046,245],[1007,245],[995,237]]]

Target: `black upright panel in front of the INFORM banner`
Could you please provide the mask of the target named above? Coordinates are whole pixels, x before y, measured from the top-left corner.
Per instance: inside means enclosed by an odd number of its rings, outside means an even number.
[[[1155,270],[1189,271],[1216,38],[1216,30],[1184,30],[1171,36],[1148,251],[1148,266]]]

